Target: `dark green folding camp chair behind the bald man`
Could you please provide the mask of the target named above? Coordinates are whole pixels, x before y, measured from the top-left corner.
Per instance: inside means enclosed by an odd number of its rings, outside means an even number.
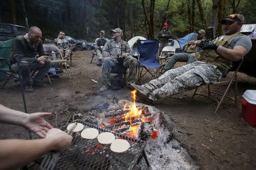
[[[10,55],[11,55],[11,48],[13,46],[14,39],[8,41],[0,41],[0,73],[5,79],[5,83],[1,86],[1,88],[5,87],[5,84],[9,82],[9,80],[14,77],[16,73],[10,69]]]

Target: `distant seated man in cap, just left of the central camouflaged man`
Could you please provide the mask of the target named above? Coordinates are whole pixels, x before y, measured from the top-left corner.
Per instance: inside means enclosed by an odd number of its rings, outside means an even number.
[[[100,37],[98,37],[96,40],[95,40],[95,43],[94,43],[94,47],[95,47],[95,52],[96,52],[96,55],[97,55],[97,65],[101,66],[102,65],[102,62],[103,62],[103,59],[104,57],[102,56],[102,49],[106,43],[106,41],[108,41],[107,38],[105,38],[105,31],[101,31],[100,32]]]

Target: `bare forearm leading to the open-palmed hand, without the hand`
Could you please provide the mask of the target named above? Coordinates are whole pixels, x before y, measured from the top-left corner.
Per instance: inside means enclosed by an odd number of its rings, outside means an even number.
[[[15,111],[0,104],[0,122],[22,125],[22,121],[27,115],[26,113]]]

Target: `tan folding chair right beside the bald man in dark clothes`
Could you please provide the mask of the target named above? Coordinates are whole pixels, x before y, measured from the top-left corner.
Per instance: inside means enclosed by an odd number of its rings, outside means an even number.
[[[60,59],[52,59],[52,65],[60,65],[60,70],[57,70],[57,71],[60,71],[60,75],[62,73],[62,65],[64,64],[65,66],[65,69],[67,71],[67,74],[69,76],[69,79],[71,79],[71,76],[69,75],[69,72],[68,72],[68,69],[67,69],[67,60],[66,59],[63,59],[63,56],[60,52],[60,49],[57,47],[57,45],[55,44],[43,44],[43,48],[44,48],[44,52],[51,56],[52,54],[52,51],[55,52],[56,56],[60,56]],[[49,75],[47,73],[47,77],[48,77],[48,80],[49,80],[49,83],[51,83],[51,79],[49,78]]]

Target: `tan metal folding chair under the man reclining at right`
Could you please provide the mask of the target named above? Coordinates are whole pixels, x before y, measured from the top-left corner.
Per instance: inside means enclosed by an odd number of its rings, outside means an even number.
[[[218,105],[217,105],[217,108],[215,109],[214,113],[217,113],[218,108],[220,107],[224,97],[227,97],[227,98],[233,100],[235,107],[237,107],[237,72],[240,69],[240,67],[242,65],[242,62],[243,62],[243,58],[240,61],[233,63],[233,68],[230,71],[234,71],[234,73],[232,74],[231,78],[225,77],[225,78],[221,78],[220,82],[214,82],[213,84],[207,84],[207,86],[208,86],[208,95],[207,96],[197,93],[197,89],[199,88],[199,87],[197,87],[195,92],[193,93],[193,96],[192,96],[191,100],[193,100],[193,97],[195,95],[200,95],[200,96],[208,97],[208,99],[212,99],[212,100],[216,101],[218,103]],[[234,85],[235,85],[234,97],[226,96],[226,94],[227,94],[227,92],[228,92],[232,83],[234,83]],[[217,92],[210,91],[210,86],[222,86],[222,85],[228,85],[226,87],[226,90],[225,90],[224,94],[220,94],[220,93],[217,93]],[[222,96],[221,100],[213,99],[210,96],[210,94],[216,94],[216,95]]]

